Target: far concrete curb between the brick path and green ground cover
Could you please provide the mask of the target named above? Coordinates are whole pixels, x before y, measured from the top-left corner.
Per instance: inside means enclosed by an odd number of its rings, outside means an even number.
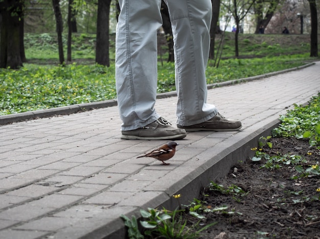
[[[286,70],[271,72],[263,75],[257,75],[253,77],[247,77],[247,78],[240,78],[240,79],[234,79],[232,81],[222,82],[222,83],[215,83],[208,85],[208,89],[213,89],[216,87],[223,87],[223,86],[229,86],[234,85],[242,82],[250,82],[255,81],[257,79],[262,79],[265,77],[269,77],[272,75],[282,74],[293,70],[300,70],[309,66],[314,65],[314,63],[308,63],[303,66],[290,68]],[[166,93],[160,93],[157,94],[157,98],[168,98],[176,96],[177,92],[166,92]],[[52,108],[52,109],[45,109],[45,110],[37,110],[37,111],[30,111],[30,112],[24,112],[24,113],[17,113],[12,115],[3,115],[0,116],[0,125],[5,124],[11,124],[14,122],[20,122],[25,120],[32,120],[37,118],[44,118],[44,117],[53,117],[56,115],[70,115],[75,114],[83,111],[90,111],[94,109],[100,109],[100,108],[107,108],[107,107],[113,107],[118,105],[117,99],[111,99],[111,100],[105,100],[105,101],[98,101],[98,102],[92,102],[92,103],[83,103],[83,104],[73,104],[65,107],[58,107],[58,108]]]

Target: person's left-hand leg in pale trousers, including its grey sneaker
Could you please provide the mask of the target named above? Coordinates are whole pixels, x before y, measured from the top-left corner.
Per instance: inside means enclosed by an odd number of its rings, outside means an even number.
[[[157,29],[161,0],[120,0],[116,31],[116,86],[122,139],[181,139],[154,110],[157,90]]]

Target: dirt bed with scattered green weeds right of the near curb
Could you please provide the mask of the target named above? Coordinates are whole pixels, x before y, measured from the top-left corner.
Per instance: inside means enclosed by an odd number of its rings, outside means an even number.
[[[205,214],[208,223],[218,224],[202,238],[319,237],[319,100],[320,95],[313,97],[309,105],[301,105],[303,109],[296,105],[297,112],[282,117],[293,120],[280,125],[287,137],[261,137],[252,148],[252,160],[239,163],[203,190],[199,198],[207,205],[226,206],[241,214]],[[310,138],[305,134],[308,131]],[[246,194],[230,191],[230,187]],[[220,237],[221,233],[225,237]]]

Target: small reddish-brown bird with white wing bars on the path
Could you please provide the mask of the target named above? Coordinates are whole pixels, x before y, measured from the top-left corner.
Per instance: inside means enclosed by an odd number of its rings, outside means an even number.
[[[162,165],[169,165],[165,163],[164,161],[169,160],[173,157],[175,154],[175,147],[178,144],[174,141],[171,141],[167,144],[164,144],[163,146],[159,147],[158,149],[155,149],[151,151],[150,153],[146,153],[145,155],[139,156],[139,157],[153,157],[156,158],[158,161],[162,162]],[[139,158],[136,157],[136,158]]]

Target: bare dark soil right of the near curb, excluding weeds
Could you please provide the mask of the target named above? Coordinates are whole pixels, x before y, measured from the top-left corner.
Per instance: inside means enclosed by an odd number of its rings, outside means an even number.
[[[271,138],[272,148],[264,147],[269,155],[295,154],[308,160],[303,167],[319,164],[320,152],[308,141],[293,138]],[[309,152],[309,153],[308,153]],[[310,154],[311,153],[311,154]],[[235,184],[246,196],[221,194],[204,189],[200,195],[205,206],[228,208],[204,214],[204,225],[217,222],[201,238],[320,238],[320,176],[292,179],[298,173],[292,165],[280,169],[262,169],[265,162],[251,160],[232,168],[215,182],[225,188]],[[312,199],[316,196],[317,199]],[[233,212],[233,213],[228,213]]]

